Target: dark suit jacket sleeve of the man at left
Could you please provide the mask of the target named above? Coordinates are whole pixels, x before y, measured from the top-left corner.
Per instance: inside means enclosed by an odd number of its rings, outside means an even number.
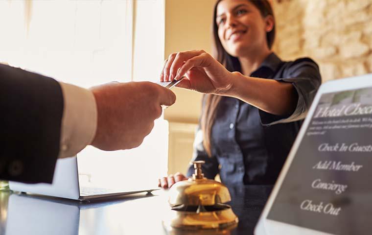
[[[0,65],[0,179],[52,182],[63,105],[54,79]]]

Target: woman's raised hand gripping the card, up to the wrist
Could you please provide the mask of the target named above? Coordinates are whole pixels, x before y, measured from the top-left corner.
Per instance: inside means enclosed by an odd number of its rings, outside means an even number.
[[[165,60],[160,81],[184,79],[177,87],[206,94],[228,94],[232,72],[204,50],[173,53]]]

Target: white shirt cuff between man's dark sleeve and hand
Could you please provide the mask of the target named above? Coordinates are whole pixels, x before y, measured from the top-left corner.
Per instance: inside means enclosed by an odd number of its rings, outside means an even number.
[[[97,128],[97,108],[93,93],[60,82],[64,109],[58,158],[71,157],[93,141]]]

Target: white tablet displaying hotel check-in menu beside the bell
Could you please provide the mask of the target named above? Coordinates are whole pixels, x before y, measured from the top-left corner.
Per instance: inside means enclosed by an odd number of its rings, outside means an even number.
[[[372,74],[324,83],[255,235],[371,234]]]

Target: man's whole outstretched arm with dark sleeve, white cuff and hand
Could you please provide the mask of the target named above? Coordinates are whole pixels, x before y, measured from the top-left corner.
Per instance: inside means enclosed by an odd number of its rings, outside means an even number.
[[[58,156],[137,147],[175,100],[151,82],[87,90],[0,65],[0,179],[51,183]]]

